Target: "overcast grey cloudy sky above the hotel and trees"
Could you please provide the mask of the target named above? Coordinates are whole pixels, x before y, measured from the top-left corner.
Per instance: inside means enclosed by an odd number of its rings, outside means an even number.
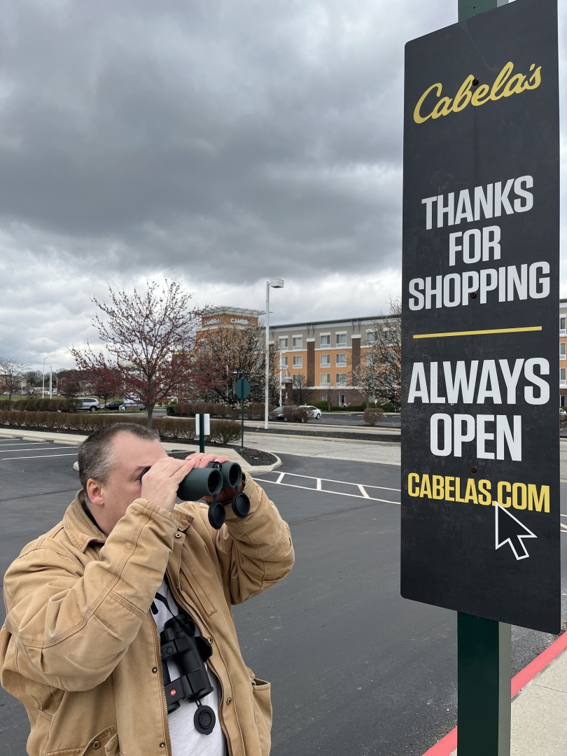
[[[259,309],[283,277],[274,322],[386,309],[404,44],[456,20],[457,0],[4,0],[0,356],[70,366],[91,296],[163,275]],[[562,14],[562,82],[564,42]]]

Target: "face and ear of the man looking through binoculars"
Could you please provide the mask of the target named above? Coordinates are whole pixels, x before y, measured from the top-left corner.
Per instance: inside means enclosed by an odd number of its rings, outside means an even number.
[[[91,513],[99,528],[109,534],[129,505],[141,496],[141,474],[161,457],[167,457],[159,441],[146,441],[129,432],[113,441],[114,464],[106,483],[88,482]]]

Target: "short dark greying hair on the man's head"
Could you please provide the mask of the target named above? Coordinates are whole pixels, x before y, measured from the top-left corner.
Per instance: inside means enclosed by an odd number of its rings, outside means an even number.
[[[155,430],[137,423],[113,423],[105,428],[98,428],[85,438],[79,446],[79,480],[88,504],[87,483],[89,479],[107,483],[110,470],[115,462],[113,441],[119,433],[130,433],[144,441],[159,441],[160,435]]]

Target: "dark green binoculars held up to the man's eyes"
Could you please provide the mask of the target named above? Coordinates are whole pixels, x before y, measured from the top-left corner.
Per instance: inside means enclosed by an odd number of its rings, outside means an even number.
[[[145,475],[147,469],[142,472]],[[237,462],[209,462],[206,467],[194,467],[179,484],[177,495],[184,501],[197,501],[212,496],[209,503],[209,523],[218,530],[225,524],[225,504],[216,500],[217,494],[225,488],[233,488],[232,511],[237,517],[246,517],[250,511],[250,500],[243,491],[238,491],[242,482],[242,468]],[[228,502],[227,502],[228,504]]]

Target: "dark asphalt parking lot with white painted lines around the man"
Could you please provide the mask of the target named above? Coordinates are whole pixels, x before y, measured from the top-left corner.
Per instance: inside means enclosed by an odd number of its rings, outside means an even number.
[[[0,441],[2,574],[60,520],[78,488],[75,455]],[[457,719],[456,615],[399,595],[400,469],[282,460],[259,482],[290,522],[296,565],[234,608],[246,663],[272,682],[272,754],[421,756]],[[552,640],[515,628],[513,671]],[[2,754],[25,756],[28,730],[23,707],[0,691]]]

